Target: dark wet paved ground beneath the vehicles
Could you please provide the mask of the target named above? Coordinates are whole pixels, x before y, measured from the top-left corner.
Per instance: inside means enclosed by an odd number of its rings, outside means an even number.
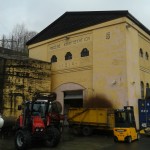
[[[140,141],[131,144],[114,143],[111,135],[94,134],[90,137],[74,136],[64,132],[59,145],[53,150],[149,150],[150,137],[142,136]],[[0,150],[14,150],[13,137],[0,139]],[[39,142],[30,150],[50,150]]]

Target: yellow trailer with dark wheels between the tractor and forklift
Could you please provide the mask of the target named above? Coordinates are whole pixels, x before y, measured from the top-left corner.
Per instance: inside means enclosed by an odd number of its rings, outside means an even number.
[[[111,108],[70,108],[69,127],[75,134],[88,136],[94,129],[113,130],[114,110]]]

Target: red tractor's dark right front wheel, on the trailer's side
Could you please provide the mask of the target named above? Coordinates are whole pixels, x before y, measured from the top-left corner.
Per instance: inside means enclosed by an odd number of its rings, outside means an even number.
[[[47,147],[55,147],[58,145],[61,138],[60,131],[55,127],[49,127],[47,129],[47,138],[45,144]]]

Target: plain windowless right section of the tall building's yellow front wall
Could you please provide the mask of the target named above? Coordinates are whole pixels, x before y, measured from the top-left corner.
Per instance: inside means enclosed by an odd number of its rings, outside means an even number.
[[[126,36],[124,24],[94,31],[93,88],[112,102],[114,108],[127,105]]]

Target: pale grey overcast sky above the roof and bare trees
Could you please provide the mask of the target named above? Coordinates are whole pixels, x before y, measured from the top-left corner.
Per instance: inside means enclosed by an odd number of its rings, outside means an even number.
[[[128,10],[150,29],[150,0],[0,0],[0,38],[17,24],[40,32],[66,11]]]

